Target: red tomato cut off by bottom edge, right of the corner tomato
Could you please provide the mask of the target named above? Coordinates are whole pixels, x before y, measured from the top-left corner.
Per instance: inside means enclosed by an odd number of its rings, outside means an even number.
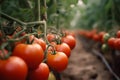
[[[48,80],[49,72],[48,65],[46,63],[40,63],[35,70],[30,71],[28,80]]]

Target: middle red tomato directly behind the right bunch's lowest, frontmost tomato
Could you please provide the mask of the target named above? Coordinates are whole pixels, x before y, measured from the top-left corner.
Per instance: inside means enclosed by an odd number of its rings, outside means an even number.
[[[71,54],[71,49],[66,43],[61,43],[61,44],[56,45],[55,49],[58,52],[64,52],[67,55],[67,57],[69,57]]]

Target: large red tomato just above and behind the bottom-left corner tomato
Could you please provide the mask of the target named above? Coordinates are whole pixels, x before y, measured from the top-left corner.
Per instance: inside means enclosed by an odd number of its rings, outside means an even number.
[[[12,55],[25,60],[29,69],[38,67],[44,58],[43,50],[39,44],[18,44]]]

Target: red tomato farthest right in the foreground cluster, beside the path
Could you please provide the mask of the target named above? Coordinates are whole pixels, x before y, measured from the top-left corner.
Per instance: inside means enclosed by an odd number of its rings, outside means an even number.
[[[70,46],[70,49],[74,49],[74,47],[76,45],[76,40],[71,35],[67,35],[65,37],[62,37],[61,41],[64,43],[67,43]]]

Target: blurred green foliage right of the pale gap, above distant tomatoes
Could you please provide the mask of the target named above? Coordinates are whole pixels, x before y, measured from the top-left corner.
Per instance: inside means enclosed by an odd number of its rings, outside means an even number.
[[[79,26],[92,29],[94,25],[99,30],[109,31],[120,25],[120,0],[83,0],[86,4],[84,13],[80,18]]]

